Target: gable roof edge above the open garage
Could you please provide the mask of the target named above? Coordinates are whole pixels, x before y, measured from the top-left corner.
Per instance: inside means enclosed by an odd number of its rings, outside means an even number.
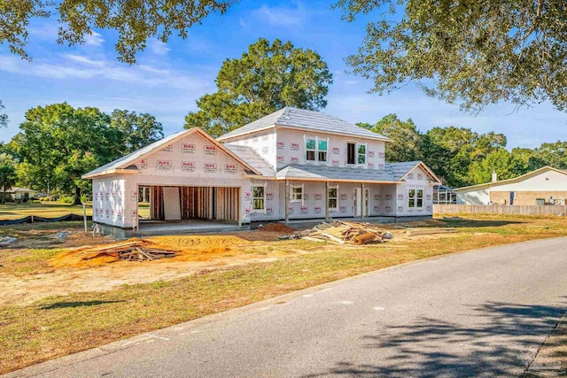
[[[97,169],[90,171],[88,174],[83,174],[81,176],[81,178],[82,179],[92,179],[93,177],[104,176],[106,174],[128,174],[128,173],[136,174],[136,173],[138,173],[137,168],[131,167],[131,165],[138,158],[143,158],[144,156],[147,156],[147,155],[149,155],[149,154],[151,154],[151,153],[153,153],[157,150],[161,150],[161,148],[163,148],[163,146],[170,144],[170,143],[174,143],[175,141],[178,141],[179,139],[182,139],[183,137],[191,135],[191,134],[198,134],[198,135],[203,136],[210,143],[213,143],[217,148],[224,151],[231,158],[234,158],[235,160],[237,160],[237,162],[239,162],[240,164],[245,166],[247,169],[249,169],[252,173],[260,174],[259,171],[257,171],[255,168],[253,168],[245,160],[243,160],[242,158],[239,158],[234,152],[227,149],[226,146],[224,146],[223,144],[218,143],[216,140],[214,140],[214,138],[211,135],[206,134],[206,132],[204,132],[203,130],[201,130],[198,127],[193,127],[193,128],[190,128],[189,130],[183,130],[183,131],[177,132],[177,133],[172,134],[172,135],[167,135],[165,138],[160,139],[158,142],[151,143],[151,144],[141,148],[140,150],[136,150],[136,151],[134,151],[134,152],[132,152],[132,153],[126,155],[126,156],[123,156],[121,158],[117,158],[116,160],[106,164],[105,166],[99,166]]]

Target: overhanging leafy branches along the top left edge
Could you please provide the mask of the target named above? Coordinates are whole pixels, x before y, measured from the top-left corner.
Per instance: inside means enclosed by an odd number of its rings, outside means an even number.
[[[118,35],[119,60],[132,64],[149,38],[167,42],[174,33],[186,38],[190,27],[211,13],[226,12],[235,3],[237,0],[4,0],[0,2],[0,44],[30,59],[26,51],[30,22],[56,18],[58,43],[83,43],[93,29],[110,29]]]

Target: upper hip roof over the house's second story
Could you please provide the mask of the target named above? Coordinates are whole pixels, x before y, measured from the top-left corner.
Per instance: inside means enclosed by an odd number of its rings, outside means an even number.
[[[243,127],[238,127],[236,130],[221,135],[217,139],[219,141],[226,141],[237,136],[252,134],[275,127],[319,131],[336,135],[356,136],[358,138],[391,142],[391,139],[384,135],[379,135],[367,128],[356,126],[346,120],[341,120],[322,112],[307,111],[291,106],[286,106],[277,112],[260,118],[260,120],[254,120]]]

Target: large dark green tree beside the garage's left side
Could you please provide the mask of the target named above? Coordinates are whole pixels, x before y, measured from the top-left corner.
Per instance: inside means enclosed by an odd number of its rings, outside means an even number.
[[[22,159],[19,181],[36,189],[74,194],[75,203],[89,192],[82,174],[155,142],[163,135],[150,114],[69,104],[38,106],[26,112],[21,132],[10,143]]]

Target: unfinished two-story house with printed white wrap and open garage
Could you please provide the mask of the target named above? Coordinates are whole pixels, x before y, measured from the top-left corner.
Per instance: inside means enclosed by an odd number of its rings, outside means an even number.
[[[386,163],[388,142],[286,107],[218,140],[199,128],[169,135],[83,178],[93,180],[95,222],[119,228],[137,227],[141,188],[151,220],[431,216],[439,179],[419,161]]]

